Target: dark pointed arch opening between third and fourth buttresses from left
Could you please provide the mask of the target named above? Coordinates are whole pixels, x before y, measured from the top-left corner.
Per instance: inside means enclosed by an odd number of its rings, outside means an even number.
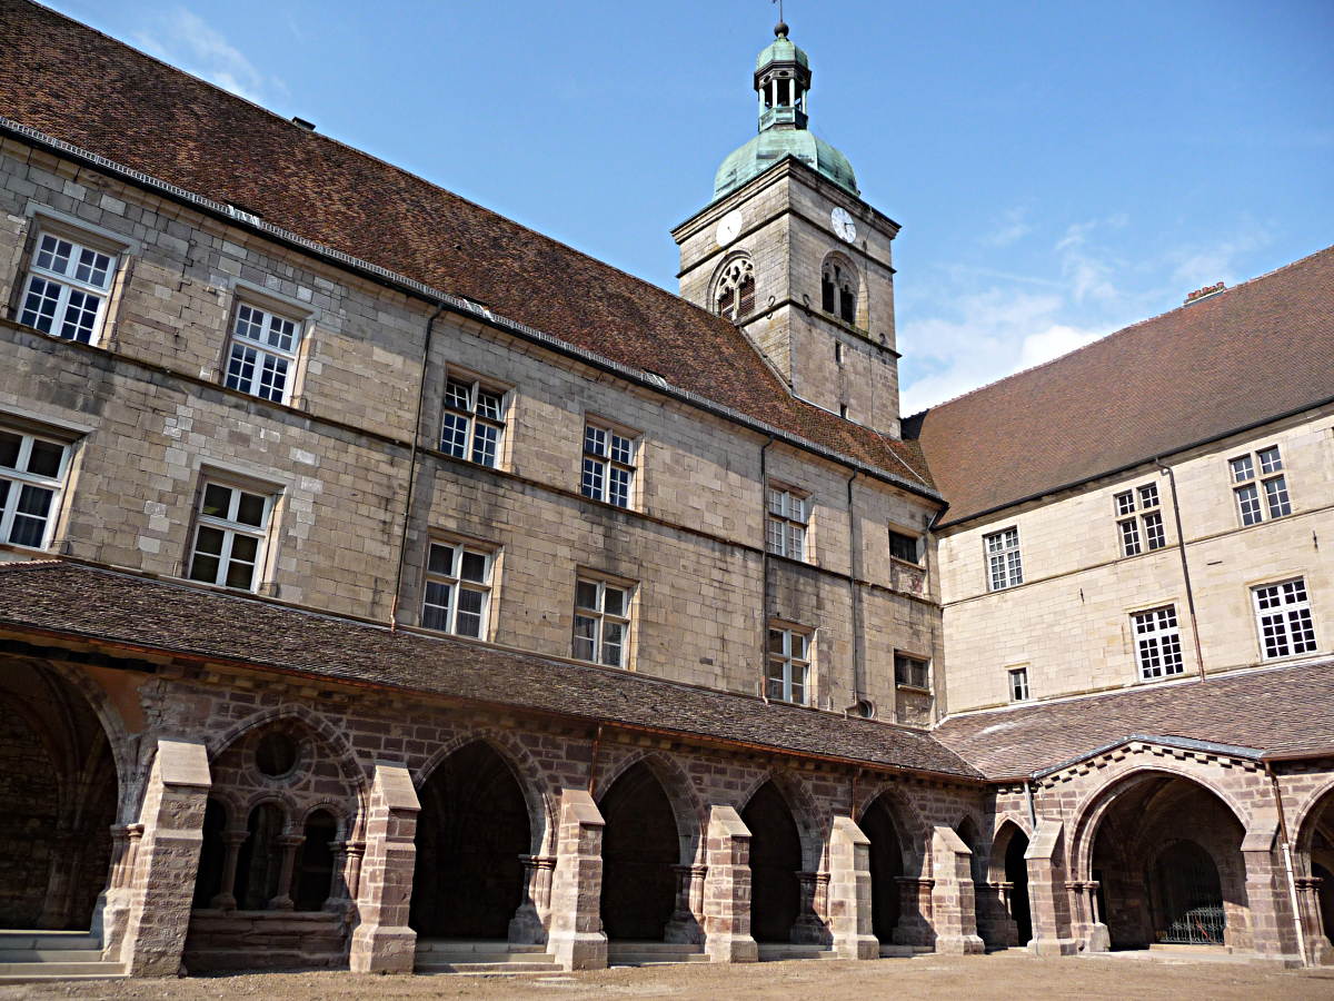
[[[647,763],[602,798],[602,925],[607,938],[660,941],[676,908],[680,838],[667,793]]]

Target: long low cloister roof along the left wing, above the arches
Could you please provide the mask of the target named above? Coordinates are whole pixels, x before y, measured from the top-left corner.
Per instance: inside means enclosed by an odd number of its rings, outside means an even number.
[[[918,730],[56,561],[0,563],[0,627],[978,778]]]

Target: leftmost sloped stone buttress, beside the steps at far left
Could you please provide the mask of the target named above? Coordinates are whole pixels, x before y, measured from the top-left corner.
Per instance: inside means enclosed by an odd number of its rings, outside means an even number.
[[[143,840],[120,944],[120,961],[132,977],[173,977],[180,970],[211,785],[203,743],[157,741],[139,811]]]

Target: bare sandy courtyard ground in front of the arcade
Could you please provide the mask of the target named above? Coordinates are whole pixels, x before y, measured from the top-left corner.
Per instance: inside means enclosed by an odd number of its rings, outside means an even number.
[[[536,977],[368,977],[350,973],[241,973],[108,982],[52,982],[0,988],[0,998],[143,998],[203,1001],[257,997],[338,998],[616,998],[672,997],[740,1001],[911,998],[1334,998],[1334,969],[1270,970],[1237,962],[1098,957],[1037,960],[1025,954],[922,956],[872,962],[766,962],[740,966],[619,968]]]

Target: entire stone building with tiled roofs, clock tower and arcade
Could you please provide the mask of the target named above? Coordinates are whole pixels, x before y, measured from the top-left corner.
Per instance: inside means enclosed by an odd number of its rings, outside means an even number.
[[[1329,251],[1178,311],[1269,324],[1254,414],[1129,392],[1118,458],[1055,371],[1070,447],[987,476],[1030,390],[900,427],[898,226],[786,28],[682,298],[27,0],[0,37],[0,962],[1325,957]]]

